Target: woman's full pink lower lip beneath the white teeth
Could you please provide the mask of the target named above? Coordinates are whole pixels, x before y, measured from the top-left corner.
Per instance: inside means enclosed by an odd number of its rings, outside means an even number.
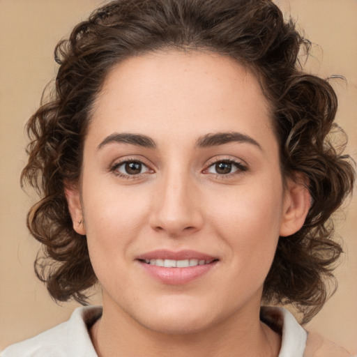
[[[139,261],[146,273],[151,275],[152,278],[169,285],[187,284],[197,278],[201,278],[202,275],[211,271],[217,262],[212,261],[210,264],[188,266],[187,268],[165,268],[164,266],[156,266]]]

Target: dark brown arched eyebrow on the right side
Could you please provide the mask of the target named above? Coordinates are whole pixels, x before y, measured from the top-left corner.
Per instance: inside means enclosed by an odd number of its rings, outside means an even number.
[[[217,132],[215,134],[207,134],[203,137],[200,137],[196,142],[196,147],[206,148],[209,146],[217,146],[228,144],[230,142],[240,142],[240,143],[248,143],[257,146],[261,151],[263,149],[259,145],[255,139],[250,137],[249,135],[245,135],[241,132]]]

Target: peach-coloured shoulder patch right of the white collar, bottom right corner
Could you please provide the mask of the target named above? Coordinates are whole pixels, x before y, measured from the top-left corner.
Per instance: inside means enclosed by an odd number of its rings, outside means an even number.
[[[309,333],[304,357],[351,357],[351,354],[337,344],[325,340],[318,333]]]

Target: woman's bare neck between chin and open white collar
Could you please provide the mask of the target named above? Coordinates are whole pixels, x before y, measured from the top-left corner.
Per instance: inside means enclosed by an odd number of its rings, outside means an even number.
[[[99,357],[278,357],[280,350],[280,335],[259,320],[259,309],[254,316],[242,312],[204,331],[178,335],[149,330],[104,307],[90,332]]]

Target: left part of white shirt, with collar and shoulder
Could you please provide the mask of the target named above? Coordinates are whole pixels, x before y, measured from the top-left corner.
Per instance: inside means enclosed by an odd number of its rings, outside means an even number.
[[[10,345],[1,357],[97,357],[88,326],[100,317],[101,311],[101,307],[79,307],[68,321]]]

